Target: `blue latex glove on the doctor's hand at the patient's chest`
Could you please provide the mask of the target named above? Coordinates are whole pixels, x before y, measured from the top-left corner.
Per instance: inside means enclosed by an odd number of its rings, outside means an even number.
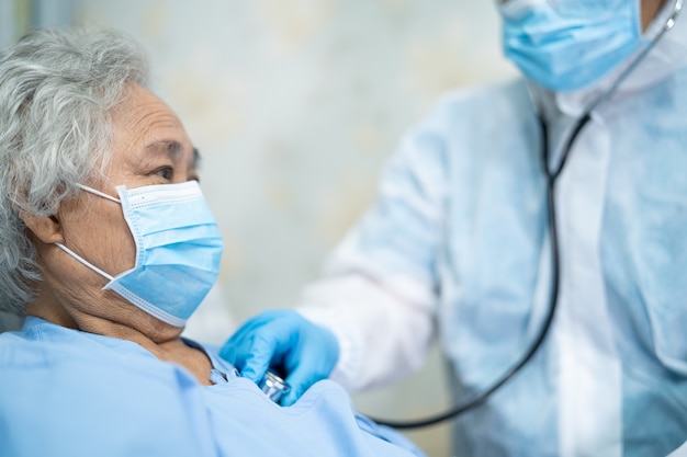
[[[268,368],[277,367],[291,386],[280,401],[288,407],[313,384],[329,376],[339,358],[339,343],[329,330],[296,311],[273,310],[244,323],[224,343],[219,355],[256,384]]]

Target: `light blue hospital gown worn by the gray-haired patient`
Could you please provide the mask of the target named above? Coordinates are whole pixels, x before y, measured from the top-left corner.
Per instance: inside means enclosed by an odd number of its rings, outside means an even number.
[[[0,334],[0,456],[423,455],[331,381],[281,408],[204,350],[213,386],[133,342],[30,317]]]

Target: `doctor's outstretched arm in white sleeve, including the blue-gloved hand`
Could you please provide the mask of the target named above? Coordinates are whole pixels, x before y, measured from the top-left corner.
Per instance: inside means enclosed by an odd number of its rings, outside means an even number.
[[[433,332],[443,150],[439,135],[408,135],[374,206],[304,289],[297,311],[249,320],[222,355],[256,381],[270,366],[285,369],[293,391],[283,404],[323,377],[357,390],[417,369]]]

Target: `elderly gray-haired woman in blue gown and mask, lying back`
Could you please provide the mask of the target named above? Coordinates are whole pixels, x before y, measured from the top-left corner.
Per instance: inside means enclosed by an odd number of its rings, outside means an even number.
[[[0,454],[409,456],[330,381],[281,408],[182,339],[222,238],[199,155],[116,33],[0,55]],[[328,342],[323,342],[327,344]]]

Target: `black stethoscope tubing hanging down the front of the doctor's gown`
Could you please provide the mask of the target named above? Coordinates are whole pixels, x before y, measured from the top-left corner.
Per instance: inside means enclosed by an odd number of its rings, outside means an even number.
[[[666,20],[663,28],[657,33],[657,35],[644,47],[644,49],[630,62],[630,65],[618,76],[616,81],[610,88],[608,88],[601,95],[599,95],[593,103],[590,103],[587,108],[584,111],[584,114],[577,118],[575,125],[571,129],[571,134],[565,141],[565,146],[562,149],[562,153],[555,167],[551,168],[550,165],[550,148],[549,148],[549,129],[547,123],[543,118],[543,115],[539,113],[539,123],[541,125],[541,141],[542,141],[542,165],[547,178],[547,201],[548,201],[548,209],[549,209],[549,233],[551,238],[551,263],[552,263],[552,277],[551,277],[551,292],[549,296],[549,307],[547,310],[547,316],[544,317],[541,329],[536,335],[534,340],[530,343],[529,349],[523,353],[520,361],[515,363],[505,374],[500,376],[500,378],[496,379],[488,388],[466,398],[464,401],[458,403],[453,408],[442,413],[439,413],[433,416],[429,416],[426,419],[414,420],[414,421],[387,421],[381,419],[374,419],[375,422],[382,425],[387,425],[394,429],[418,429],[423,426],[433,425],[439,422],[447,421],[449,419],[453,419],[466,411],[472,410],[473,408],[482,404],[486,401],[487,398],[492,396],[496,390],[498,390],[503,385],[505,385],[508,380],[510,380],[517,373],[522,369],[525,365],[532,358],[532,356],[537,353],[537,351],[541,347],[542,342],[547,338],[549,330],[551,329],[551,323],[553,322],[553,317],[555,315],[555,310],[559,301],[559,287],[560,287],[560,276],[561,276],[561,265],[560,265],[560,247],[559,247],[559,230],[556,226],[556,210],[555,210],[555,183],[565,167],[565,162],[567,157],[570,156],[570,151],[575,144],[575,140],[579,136],[583,128],[587,125],[587,123],[592,119],[592,113],[604,102],[606,102],[612,94],[616,92],[620,83],[637,68],[637,66],[644,59],[646,54],[654,47],[654,45],[661,39],[661,37],[673,26],[675,25],[675,20],[679,12],[683,9],[684,0],[675,0],[675,5],[673,7],[673,12],[671,16]],[[536,103],[536,105],[538,105]]]

